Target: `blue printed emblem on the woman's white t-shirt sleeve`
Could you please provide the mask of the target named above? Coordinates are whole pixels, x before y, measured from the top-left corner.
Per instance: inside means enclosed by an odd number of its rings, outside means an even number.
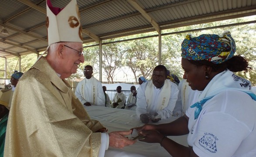
[[[212,133],[205,133],[205,136],[203,136],[199,140],[199,144],[205,148],[205,150],[209,150],[212,153],[217,152],[217,147],[216,147],[216,140],[217,137],[215,137]]]

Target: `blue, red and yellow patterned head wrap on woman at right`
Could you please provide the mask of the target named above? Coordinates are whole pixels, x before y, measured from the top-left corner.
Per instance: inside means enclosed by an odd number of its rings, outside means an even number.
[[[187,35],[181,44],[181,57],[188,60],[207,60],[219,64],[232,58],[236,44],[229,31],[221,36],[202,34],[191,38]]]

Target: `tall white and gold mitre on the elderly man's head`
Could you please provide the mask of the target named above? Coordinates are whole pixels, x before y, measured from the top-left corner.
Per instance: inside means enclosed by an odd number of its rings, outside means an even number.
[[[64,8],[52,7],[46,0],[48,45],[64,42],[82,42],[79,7],[76,0],[71,0]]]

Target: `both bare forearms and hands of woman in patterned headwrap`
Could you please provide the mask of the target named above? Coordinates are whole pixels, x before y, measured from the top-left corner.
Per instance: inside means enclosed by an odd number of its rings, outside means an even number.
[[[192,147],[185,147],[165,136],[177,136],[188,134],[188,116],[184,115],[177,120],[160,125],[144,125],[140,133],[145,135],[144,140],[147,143],[160,143],[172,157],[198,157]]]

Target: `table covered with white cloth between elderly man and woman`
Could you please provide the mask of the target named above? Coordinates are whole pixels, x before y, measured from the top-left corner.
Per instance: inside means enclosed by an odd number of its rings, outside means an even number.
[[[136,112],[132,110],[114,109],[103,106],[85,106],[85,110],[91,116],[91,119],[96,119],[102,123],[108,129],[108,133],[112,131],[130,130],[133,127],[144,125],[137,118]],[[175,117],[162,119],[154,124],[169,123],[175,119]],[[168,138],[184,146],[188,146],[187,135],[169,136]],[[171,155],[159,143],[137,141],[135,144],[124,147],[123,149],[109,147],[106,150],[105,157],[171,157]]]

